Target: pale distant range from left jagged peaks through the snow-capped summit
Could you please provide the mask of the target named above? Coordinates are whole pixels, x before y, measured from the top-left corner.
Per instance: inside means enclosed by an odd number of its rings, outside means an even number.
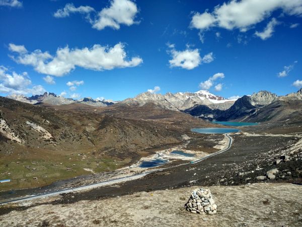
[[[64,105],[71,103],[82,103],[96,107],[109,106],[115,103],[142,106],[148,102],[153,102],[162,108],[170,110],[185,110],[198,104],[209,106],[212,109],[228,109],[236,101],[236,99],[226,99],[221,96],[211,94],[210,92],[205,90],[200,90],[194,93],[178,92],[172,94],[168,92],[165,95],[144,92],[138,94],[134,98],[127,98],[123,101],[113,101],[111,99],[99,100],[93,99],[91,97],[75,100],[48,92],[45,92],[42,95],[34,95],[31,97],[20,94],[12,94],[8,95],[7,98],[38,105]]]

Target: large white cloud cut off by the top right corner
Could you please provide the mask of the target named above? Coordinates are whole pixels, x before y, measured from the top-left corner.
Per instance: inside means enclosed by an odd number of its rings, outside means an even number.
[[[245,32],[276,10],[281,10],[283,14],[290,16],[301,16],[302,0],[231,0],[216,6],[212,12],[206,10],[204,13],[195,13],[190,27],[200,30],[220,27]]]

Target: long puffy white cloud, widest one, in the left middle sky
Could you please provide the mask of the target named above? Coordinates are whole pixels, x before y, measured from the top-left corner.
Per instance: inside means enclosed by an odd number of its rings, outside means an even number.
[[[12,48],[12,46],[14,46]],[[31,65],[42,74],[64,76],[76,66],[84,69],[102,71],[114,68],[135,67],[142,63],[139,57],[127,59],[124,44],[118,43],[113,47],[94,45],[92,48],[69,49],[68,46],[58,48],[56,55],[36,49],[33,52],[24,52],[24,46],[10,44],[10,50],[17,53],[11,56],[14,61],[23,65]],[[22,51],[21,51],[22,50]]]

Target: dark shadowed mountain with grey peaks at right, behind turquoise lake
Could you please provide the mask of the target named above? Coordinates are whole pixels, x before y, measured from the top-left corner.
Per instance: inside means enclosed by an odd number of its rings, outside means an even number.
[[[228,109],[210,109],[204,105],[195,105],[184,112],[209,121],[247,121],[262,122],[286,118],[291,110],[302,106],[302,89],[296,93],[278,97],[269,91],[259,91],[251,96],[244,95]],[[291,103],[291,104],[288,104]],[[301,108],[299,111],[301,112]],[[295,110],[294,110],[295,111]]]

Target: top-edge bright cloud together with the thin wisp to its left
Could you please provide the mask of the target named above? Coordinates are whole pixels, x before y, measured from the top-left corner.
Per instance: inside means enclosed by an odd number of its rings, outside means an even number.
[[[74,13],[86,15],[86,19],[97,30],[102,30],[106,27],[120,29],[121,25],[130,26],[138,23],[135,21],[136,14],[138,13],[137,6],[130,0],[112,0],[110,1],[110,6],[102,9],[100,12],[96,12],[90,6],[75,7],[73,4],[66,4],[63,9],[57,10],[53,16],[63,18]],[[93,19],[90,14],[94,14]]]

